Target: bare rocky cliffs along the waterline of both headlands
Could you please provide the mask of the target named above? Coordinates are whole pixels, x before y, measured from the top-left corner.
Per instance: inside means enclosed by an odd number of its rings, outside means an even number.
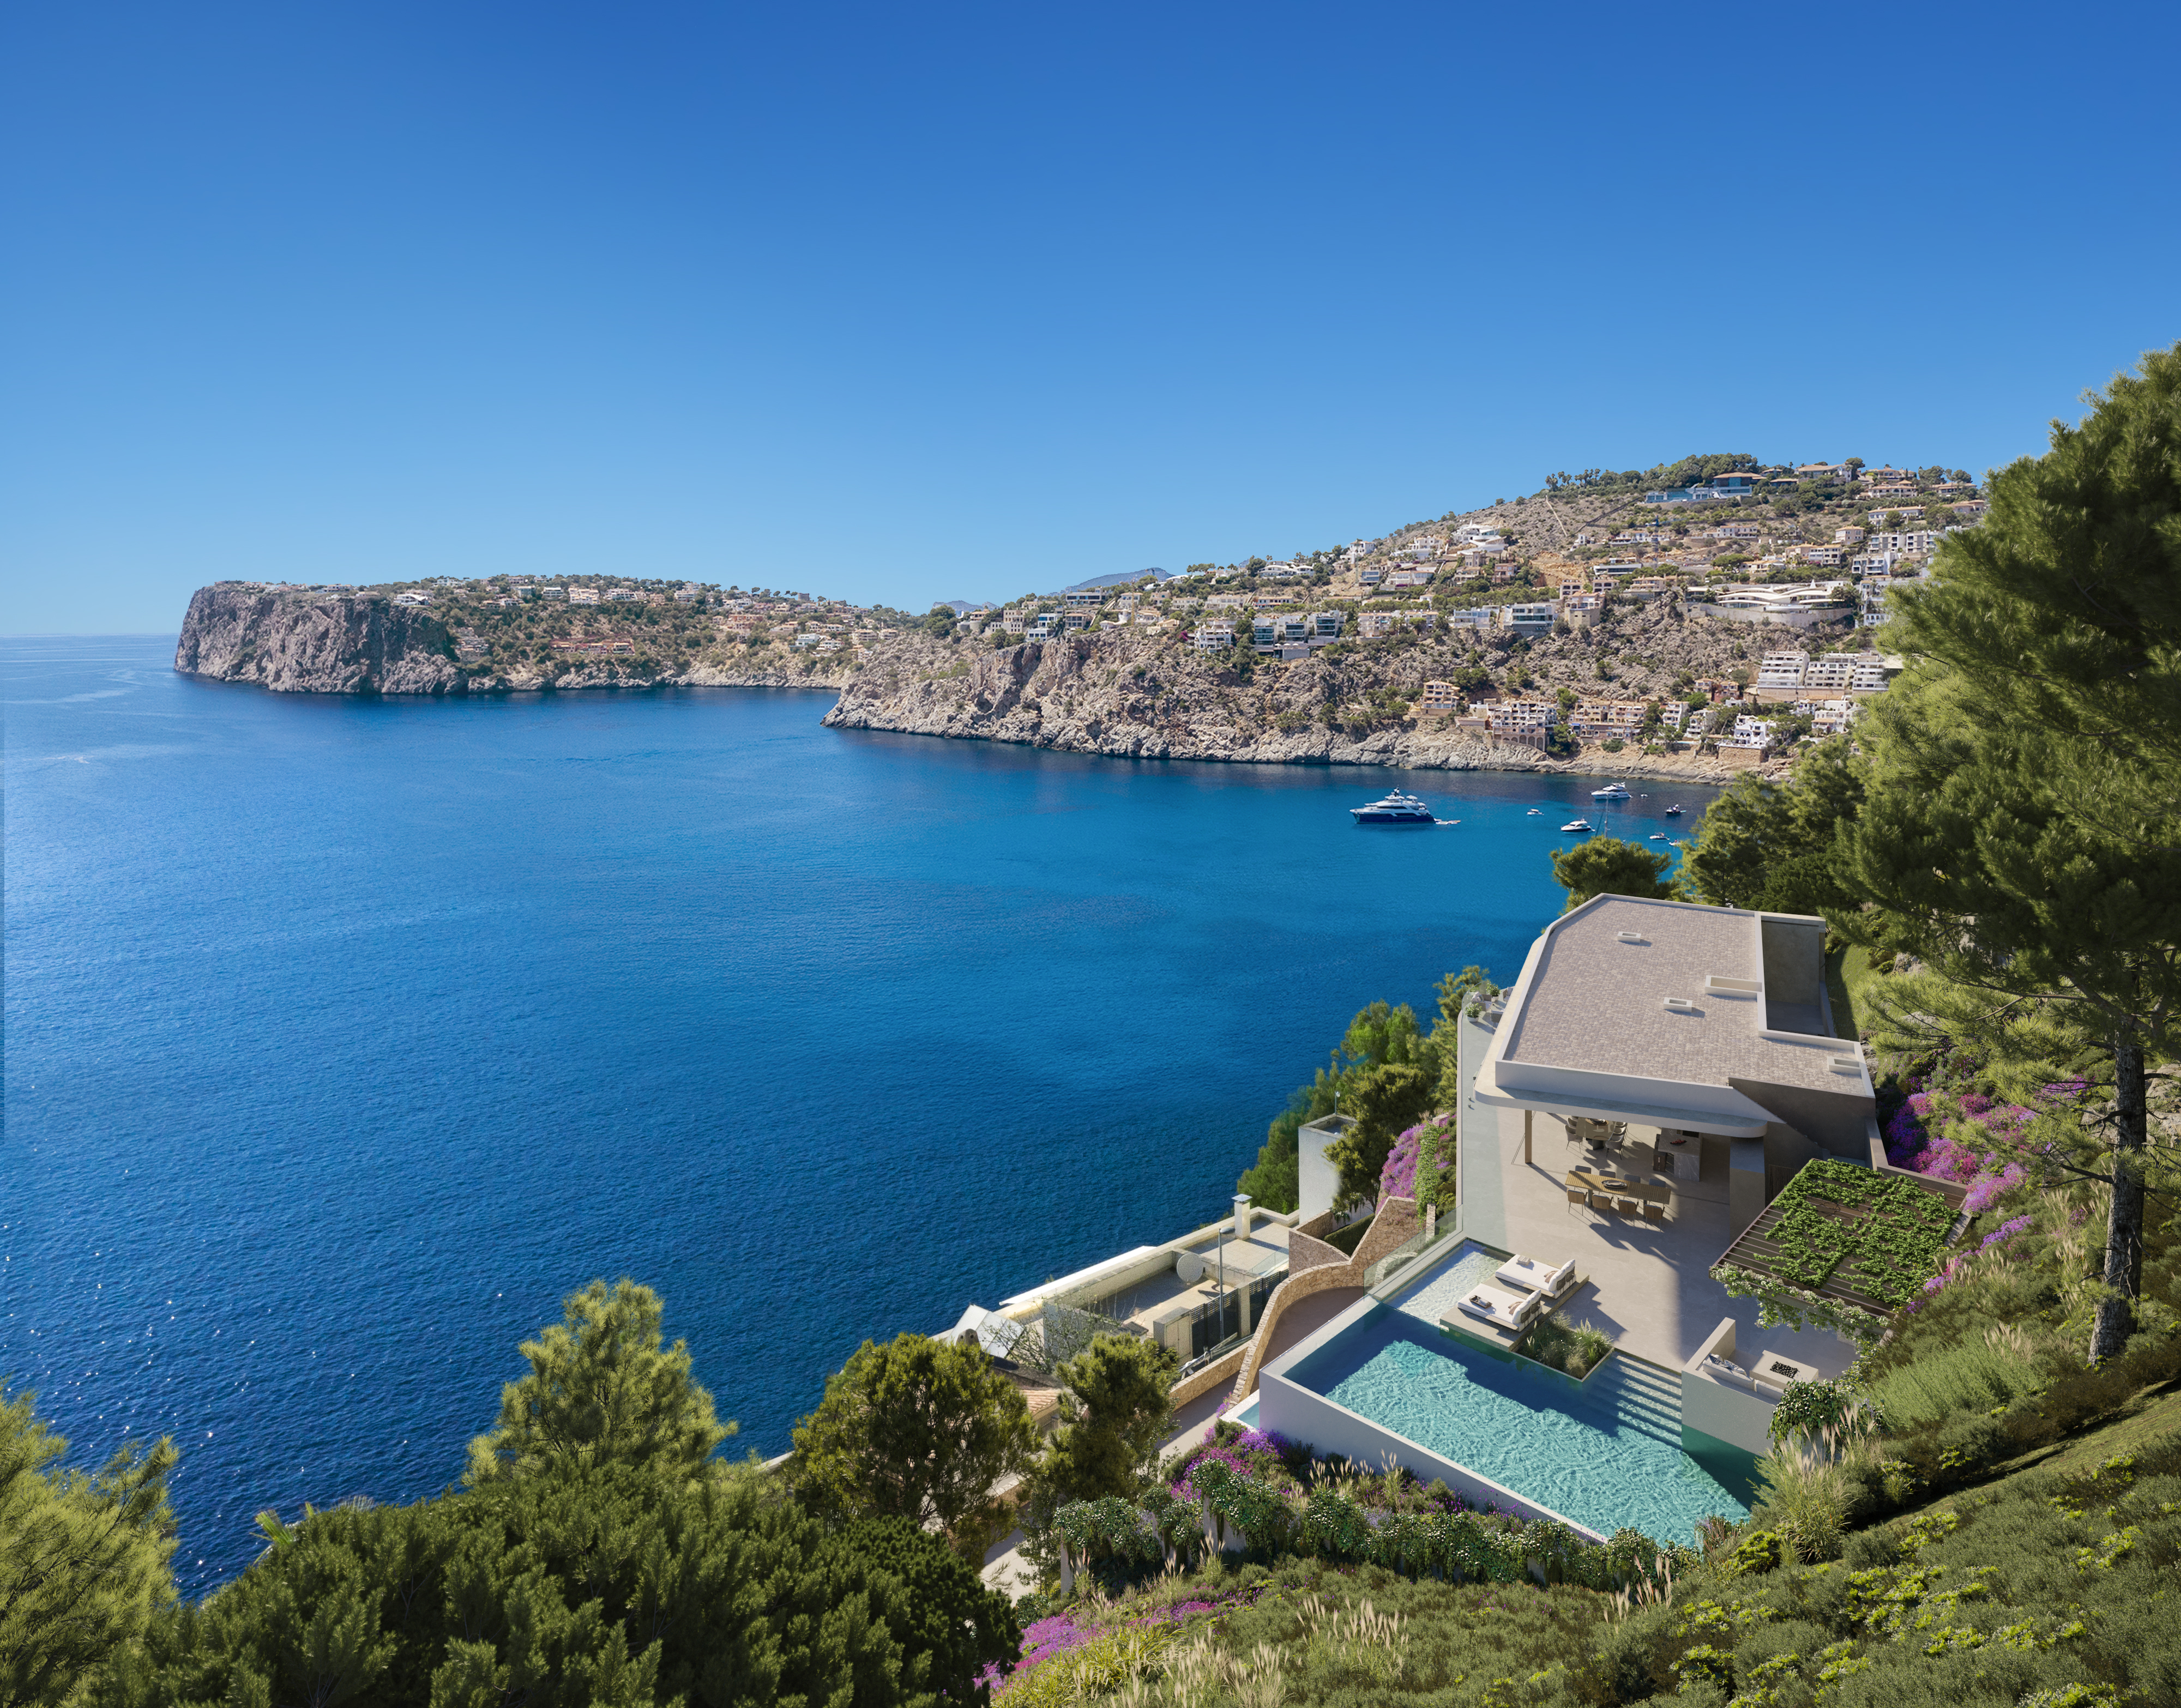
[[[1743,624],[1710,630],[1701,617],[1655,611],[1620,630],[1612,665],[1592,637],[1544,641],[1525,659],[1538,691],[1562,678],[1594,691],[1599,672],[1612,670],[1620,691],[1658,694],[1690,663],[1716,665],[1725,648],[1747,650],[1758,639]],[[1686,783],[1727,783],[1747,770],[1701,753],[1647,755],[1634,744],[1555,757],[1516,739],[1457,731],[1446,718],[1411,715],[1405,696],[1433,674],[1450,674],[1466,657],[1474,657],[1468,643],[1450,639],[1365,643],[1293,663],[1265,661],[1243,674],[1228,654],[1191,650],[1176,624],[1147,624],[1005,648],[903,630],[861,659],[722,646],[672,665],[585,657],[530,674],[465,661],[456,635],[430,606],[395,604],[382,593],[218,582],[190,600],[174,670],[279,694],[827,689],[840,696],[822,718],[827,729],[1014,742],[1117,759]]]

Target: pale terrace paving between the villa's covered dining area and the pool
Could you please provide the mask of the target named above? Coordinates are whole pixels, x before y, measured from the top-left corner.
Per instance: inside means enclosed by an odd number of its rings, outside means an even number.
[[[1461,1023],[1461,1080],[1472,1086],[1492,1034]],[[1629,1128],[1631,1156],[1649,1156],[1655,1128]],[[1485,1246],[1527,1252],[1551,1263],[1575,1259],[1588,1285],[1566,1307],[1573,1322],[1594,1322],[1640,1359],[1679,1368],[1719,1326],[1734,1318],[1736,1357],[1784,1352],[1825,1376],[1841,1374],[1856,1350],[1832,1333],[1758,1328],[1758,1302],[1730,1298],[1712,1280],[1736,1228],[1727,1213],[1727,1143],[1706,1143],[1697,1180],[1673,1182],[1664,1222],[1644,1222],[1570,1204],[1566,1171],[1588,1160],[1557,1117],[1538,1115],[1531,1160],[1522,1160],[1522,1110],[1496,1110],[1463,1091],[1461,1099],[1461,1230]],[[1629,1169],[1649,1176],[1649,1165]]]

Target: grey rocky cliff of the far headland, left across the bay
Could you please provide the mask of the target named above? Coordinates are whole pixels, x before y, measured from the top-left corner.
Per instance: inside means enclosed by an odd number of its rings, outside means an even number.
[[[284,694],[499,694],[585,687],[827,687],[842,659],[790,659],[715,648],[678,667],[585,659],[576,667],[480,670],[456,654],[447,624],[377,593],[314,593],[216,582],[190,598],[174,670]]]

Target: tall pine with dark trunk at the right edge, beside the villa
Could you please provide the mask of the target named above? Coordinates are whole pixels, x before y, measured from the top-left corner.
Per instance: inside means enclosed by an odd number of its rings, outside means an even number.
[[[2148,1078],[2181,1049],[2181,347],[2089,401],[1904,591],[1889,639],[1913,665],[1843,835],[1867,912],[1836,923],[1969,993],[1950,1012],[1972,1045],[2096,1054],[2107,1359],[2142,1287]]]

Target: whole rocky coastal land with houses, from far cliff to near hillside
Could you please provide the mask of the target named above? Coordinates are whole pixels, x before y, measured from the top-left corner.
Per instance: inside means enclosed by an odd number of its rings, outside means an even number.
[[[1378,539],[923,615],[641,576],[220,582],[177,667],[275,689],[822,687],[833,726],[1080,753],[1721,777],[1845,729],[1967,471],[1682,458]]]

